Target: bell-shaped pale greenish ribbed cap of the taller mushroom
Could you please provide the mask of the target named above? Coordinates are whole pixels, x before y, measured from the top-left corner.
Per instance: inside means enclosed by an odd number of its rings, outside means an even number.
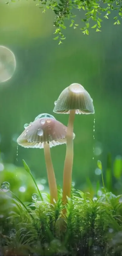
[[[91,96],[80,84],[71,84],[61,92],[53,112],[69,114],[70,110],[76,110],[76,114],[94,114]]]

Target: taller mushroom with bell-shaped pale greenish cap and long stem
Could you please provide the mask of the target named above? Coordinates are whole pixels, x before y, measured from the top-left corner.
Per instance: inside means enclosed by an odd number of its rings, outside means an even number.
[[[71,180],[73,166],[73,124],[75,114],[94,114],[94,106],[89,93],[80,84],[74,83],[65,88],[58,100],[55,102],[53,110],[59,114],[70,114],[67,129],[67,148],[64,162],[63,176],[63,198],[64,203],[67,196],[71,195]]]

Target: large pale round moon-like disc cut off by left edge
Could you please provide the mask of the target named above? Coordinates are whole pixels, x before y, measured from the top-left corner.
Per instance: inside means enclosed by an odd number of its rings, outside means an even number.
[[[0,83],[9,80],[15,71],[16,61],[13,52],[0,45]]]

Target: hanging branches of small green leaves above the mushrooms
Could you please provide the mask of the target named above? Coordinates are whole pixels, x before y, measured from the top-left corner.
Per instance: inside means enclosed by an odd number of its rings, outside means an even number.
[[[54,40],[59,39],[59,44],[65,39],[62,30],[66,29],[65,21],[71,20],[69,27],[76,29],[79,24],[75,22],[75,18],[79,15],[76,14],[76,9],[81,11],[81,21],[84,26],[80,27],[83,34],[89,35],[89,28],[95,29],[96,32],[101,31],[101,22],[103,19],[109,19],[112,11],[115,11],[114,25],[120,25],[122,18],[122,1],[121,0],[33,0],[37,1],[39,8],[43,8],[45,13],[46,8],[53,10],[55,13],[55,32]],[[10,0],[9,2],[15,2]],[[6,2],[6,4],[9,4]],[[75,15],[73,13],[75,10]]]

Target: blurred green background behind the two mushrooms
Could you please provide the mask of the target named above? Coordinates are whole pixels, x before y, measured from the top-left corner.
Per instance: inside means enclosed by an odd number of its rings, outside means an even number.
[[[110,172],[113,171],[110,188],[122,193],[121,25],[114,26],[113,16],[110,16],[109,20],[102,22],[102,32],[96,33],[91,29],[89,36],[84,36],[78,28],[70,28],[69,21],[64,31],[66,40],[58,45],[58,41],[53,40],[55,27],[51,10],[42,13],[32,0],[9,5],[5,2],[0,1],[0,45],[15,54],[16,70],[10,80],[0,84],[1,182],[10,182],[11,188],[18,193],[17,188],[28,184],[30,191],[34,185],[22,167],[22,159],[25,159],[38,184],[42,185],[41,190],[45,187],[44,180],[48,187],[43,149],[19,146],[17,156],[16,139],[24,130],[24,124],[34,121],[41,113],[52,114],[67,125],[68,115],[53,113],[54,101],[65,87],[76,82],[83,85],[93,98],[95,114],[75,117],[75,188],[87,191],[89,179],[93,187],[98,180],[101,181],[101,172],[96,169],[97,160],[101,160],[104,177],[109,166]],[[81,23],[80,12],[77,22]],[[65,150],[65,145],[51,148],[60,186]],[[107,166],[109,152],[112,160]]]

